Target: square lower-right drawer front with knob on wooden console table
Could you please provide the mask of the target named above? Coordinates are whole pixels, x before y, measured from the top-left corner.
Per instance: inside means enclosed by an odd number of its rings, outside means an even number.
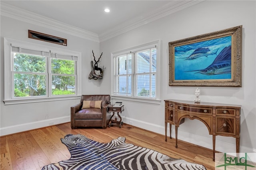
[[[224,117],[216,117],[216,134],[217,133],[228,133],[228,134],[236,134],[236,119],[235,118],[224,118]]]

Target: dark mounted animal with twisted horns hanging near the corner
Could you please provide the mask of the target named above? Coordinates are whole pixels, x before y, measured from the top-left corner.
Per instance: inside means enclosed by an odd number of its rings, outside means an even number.
[[[93,57],[94,57],[94,64],[93,64],[93,61],[91,61],[91,72],[90,72],[90,75],[89,75],[89,79],[94,79],[94,80],[97,80],[97,79],[102,79],[103,78],[103,72],[104,72],[104,67],[100,68],[98,67],[98,63],[100,63],[100,58],[103,54],[103,52],[101,53],[98,61],[96,61],[95,59],[95,56],[94,56],[94,53],[93,53],[93,50],[92,50],[92,54],[93,54]]]

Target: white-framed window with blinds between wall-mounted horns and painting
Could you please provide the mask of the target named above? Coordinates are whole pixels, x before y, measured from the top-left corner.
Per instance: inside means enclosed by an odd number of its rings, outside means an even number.
[[[158,99],[158,41],[113,55],[113,91],[120,97]]]

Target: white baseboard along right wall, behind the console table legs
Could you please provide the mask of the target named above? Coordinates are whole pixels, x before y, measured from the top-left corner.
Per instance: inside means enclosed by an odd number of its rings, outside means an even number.
[[[126,124],[133,125],[135,127],[143,128],[143,129],[146,129],[146,130],[150,130],[152,132],[156,132],[156,133],[165,135],[165,127],[164,126],[159,126],[159,125],[155,125],[155,124],[152,124],[152,123],[147,123],[147,122],[144,122],[144,121],[139,121],[139,120],[132,119],[132,118],[127,118],[127,117],[122,117],[122,121]],[[168,126],[168,129],[167,129],[167,135],[168,136],[170,136],[169,132],[170,132],[170,128]],[[175,128],[174,128],[174,126],[172,126],[172,137],[175,138]],[[169,137],[167,137],[167,140],[168,139],[169,139]],[[205,148],[212,149],[212,137],[208,138],[208,137],[199,136],[199,135],[196,135],[196,134],[190,134],[190,133],[183,132],[183,131],[179,130],[178,139],[183,140],[185,142],[192,143],[192,144],[196,144],[198,146],[202,146],[202,147],[205,147]],[[163,138],[163,140],[164,140],[164,138]],[[234,138],[234,141],[235,141],[235,138]],[[231,144],[231,143],[227,143],[227,142],[223,142],[223,141],[220,141],[220,140],[216,140],[215,150],[217,150],[219,152],[223,152],[223,153],[236,152],[236,145]],[[240,152],[241,153],[244,153],[244,152],[245,153],[256,153],[256,149],[240,145]]]

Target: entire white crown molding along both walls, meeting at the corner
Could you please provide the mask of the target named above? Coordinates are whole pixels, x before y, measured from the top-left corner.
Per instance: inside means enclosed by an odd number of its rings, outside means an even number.
[[[66,34],[70,34],[73,36],[77,36],[80,38],[84,38],[86,40],[91,40],[94,42],[103,42],[120,34],[124,34],[128,31],[134,30],[140,26],[173,14],[174,12],[178,12],[195,4],[198,4],[204,0],[182,0],[178,1],[177,4],[173,4],[175,1],[171,1],[170,3],[162,6],[161,8],[156,9],[155,11],[146,14],[144,16],[138,16],[133,20],[129,20],[120,24],[119,26],[104,32],[103,34],[96,34],[93,32],[89,32],[87,30],[83,30],[81,28],[77,28],[63,22],[59,22],[57,20],[53,20],[51,18],[47,18],[41,15],[38,15],[34,12],[29,12],[27,10],[23,10],[21,8],[17,8],[15,6],[11,6],[1,2],[0,6],[0,15],[6,16],[9,18],[14,18],[16,20],[20,20],[23,22],[27,22],[30,24],[35,24],[38,26],[42,26],[45,28],[50,28],[52,30],[56,30],[59,32],[64,32]],[[176,1],[177,2],[177,1]]]

